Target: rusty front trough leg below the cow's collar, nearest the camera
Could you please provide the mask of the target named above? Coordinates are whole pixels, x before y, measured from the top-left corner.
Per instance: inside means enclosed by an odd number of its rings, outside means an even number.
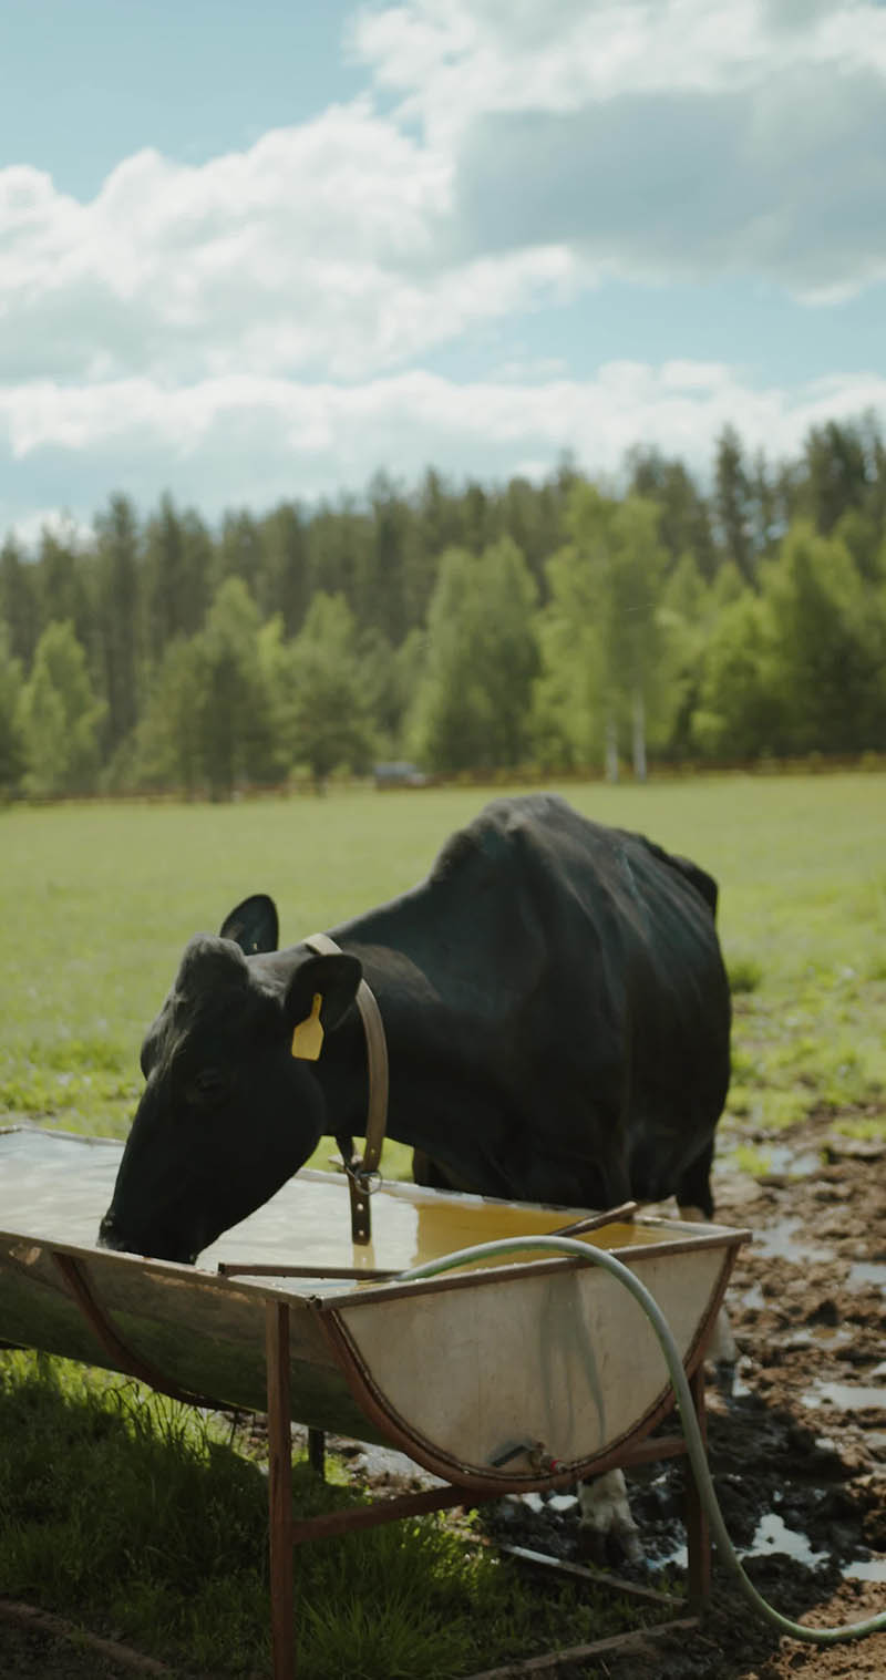
[[[293,1431],[289,1411],[289,1307],[267,1302],[267,1532],[274,1680],[296,1677],[293,1594]]]

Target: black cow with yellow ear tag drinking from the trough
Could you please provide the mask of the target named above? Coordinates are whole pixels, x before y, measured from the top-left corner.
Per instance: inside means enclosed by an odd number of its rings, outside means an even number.
[[[419,887],[277,951],[266,895],[185,949],[141,1050],[146,1087],[101,1242],[192,1262],[318,1141],[361,1134],[361,973],[390,1055],[388,1134],[422,1178],[614,1206],[674,1194],[711,1216],[730,1062],[716,884],[551,795],[496,800]],[[293,1030],[319,996],[318,1062]]]

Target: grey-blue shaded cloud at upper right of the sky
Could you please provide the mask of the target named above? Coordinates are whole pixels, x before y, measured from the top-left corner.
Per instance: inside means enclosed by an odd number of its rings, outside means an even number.
[[[886,279],[884,108],[869,76],[825,89],[807,71],[753,97],[477,119],[456,176],[462,249],[558,244],[634,281],[859,292]]]

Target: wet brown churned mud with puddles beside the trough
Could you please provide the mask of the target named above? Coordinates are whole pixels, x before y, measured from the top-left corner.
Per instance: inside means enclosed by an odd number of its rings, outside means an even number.
[[[748,1142],[755,1142],[748,1132]],[[735,1139],[731,1139],[735,1142]],[[738,1257],[730,1315],[740,1349],[731,1389],[708,1391],[709,1460],[726,1525],[757,1588],[810,1623],[886,1609],[886,1142],[842,1137],[832,1116],[792,1129],[777,1173],[718,1168],[718,1220],[755,1233]],[[410,1485],[407,1462],[350,1450],[356,1480]],[[646,1564],[619,1572],[667,1586],[681,1576],[681,1470],[632,1480]],[[486,1507],[489,1532],[582,1561],[575,1505],[530,1497]],[[2,1680],[121,1680],[103,1653],[0,1625]],[[599,1660],[617,1680],[886,1680],[886,1633],[815,1650],[755,1621],[715,1564],[701,1631]],[[419,1677],[415,1677],[419,1680]]]

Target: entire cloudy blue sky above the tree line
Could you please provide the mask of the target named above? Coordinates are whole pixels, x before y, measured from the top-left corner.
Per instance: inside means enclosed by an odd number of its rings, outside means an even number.
[[[864,410],[886,3],[0,3],[0,538]]]

